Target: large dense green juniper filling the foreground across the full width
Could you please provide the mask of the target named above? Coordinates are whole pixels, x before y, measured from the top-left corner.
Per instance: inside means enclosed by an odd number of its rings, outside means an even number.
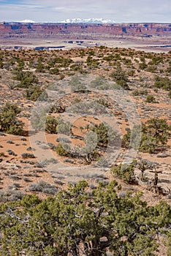
[[[169,256],[170,205],[149,206],[130,191],[118,197],[117,186],[100,183],[90,191],[86,181],[72,182],[55,197],[1,203],[1,255],[150,256],[159,252],[160,234]]]

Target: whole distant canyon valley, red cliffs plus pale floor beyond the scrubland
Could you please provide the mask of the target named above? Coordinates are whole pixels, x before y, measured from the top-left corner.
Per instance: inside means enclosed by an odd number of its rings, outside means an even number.
[[[137,45],[140,50],[161,52],[171,49],[171,23],[104,23],[107,20],[99,20],[99,23],[96,23],[97,21],[88,20],[88,23],[81,23],[81,20],[77,19],[75,23],[74,20],[64,20],[63,23],[31,23],[31,20],[1,22],[0,45],[2,49],[40,50],[86,48],[96,45],[126,48],[136,48]]]

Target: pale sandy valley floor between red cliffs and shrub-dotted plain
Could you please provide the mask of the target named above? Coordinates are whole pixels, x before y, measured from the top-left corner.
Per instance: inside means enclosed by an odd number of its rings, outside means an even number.
[[[97,39],[97,40],[83,40],[83,43],[77,43],[73,40],[73,43],[69,43],[70,40],[64,39],[0,39],[1,48],[12,48],[13,46],[23,47],[24,49],[36,48],[36,47],[64,47],[62,50],[69,50],[72,48],[87,48],[99,45],[104,45],[109,48],[133,48],[135,50],[144,50],[145,52],[166,53],[171,50],[170,40],[167,39]]]

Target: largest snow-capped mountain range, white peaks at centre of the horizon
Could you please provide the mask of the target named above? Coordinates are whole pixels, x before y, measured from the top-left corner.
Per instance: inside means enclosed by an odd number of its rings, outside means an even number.
[[[105,23],[115,23],[115,20],[108,20],[103,18],[73,18],[73,19],[66,19],[60,21],[60,23],[98,23],[98,24],[105,24]]]

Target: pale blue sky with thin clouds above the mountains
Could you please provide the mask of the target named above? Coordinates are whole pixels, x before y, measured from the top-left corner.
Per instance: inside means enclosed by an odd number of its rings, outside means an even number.
[[[0,21],[58,22],[68,18],[171,23],[171,3],[170,0],[0,0]]]

